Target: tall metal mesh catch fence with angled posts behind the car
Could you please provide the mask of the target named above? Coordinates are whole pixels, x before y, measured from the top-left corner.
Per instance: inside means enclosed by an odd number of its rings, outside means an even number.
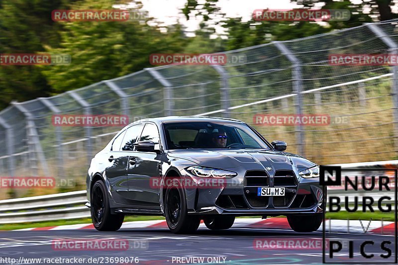
[[[398,67],[336,66],[330,54],[395,54],[398,20],[225,52],[245,62],[144,69],[0,112],[0,176],[76,177],[115,127],[56,127],[54,114],[243,120],[318,164],[392,160],[398,151]],[[345,123],[262,126],[255,114],[328,114]]]

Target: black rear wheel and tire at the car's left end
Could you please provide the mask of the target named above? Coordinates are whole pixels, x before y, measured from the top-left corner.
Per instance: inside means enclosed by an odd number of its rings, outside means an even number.
[[[91,219],[98,231],[117,231],[123,224],[123,214],[111,214],[105,184],[97,180],[91,190]]]

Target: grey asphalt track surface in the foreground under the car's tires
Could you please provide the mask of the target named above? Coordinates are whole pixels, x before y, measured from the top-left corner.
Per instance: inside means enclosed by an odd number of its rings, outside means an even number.
[[[354,244],[364,240],[375,242],[390,240],[393,242],[393,257],[395,243],[393,236],[380,235],[355,235],[331,233],[328,238],[353,240]],[[52,242],[59,239],[127,239],[129,241],[147,242],[146,249],[141,250],[101,250],[101,251],[59,251],[54,250]],[[321,232],[296,233],[282,229],[252,229],[231,228],[224,231],[211,231],[199,228],[192,235],[175,235],[167,228],[134,228],[121,229],[117,232],[99,232],[94,229],[86,230],[54,230],[54,231],[0,231],[0,264],[38,264],[37,262],[23,262],[21,258],[85,258],[86,260],[97,258],[96,263],[79,264],[137,264],[132,258],[128,262],[110,263],[106,258],[110,257],[137,257],[138,264],[163,265],[163,264],[209,264],[211,258],[217,258],[221,264],[322,264],[322,249],[261,249],[254,246],[256,239],[315,239],[322,240]],[[377,244],[375,244],[377,245]],[[380,245],[379,245],[380,246]],[[379,246],[368,246],[368,253],[380,255],[385,253]],[[359,250],[354,251],[354,257],[359,255]],[[198,260],[180,260],[177,258],[204,257],[204,262]],[[210,257],[210,260],[207,260]],[[223,261],[223,258],[225,260]],[[347,251],[341,251],[335,257],[335,263],[345,264],[352,262],[348,258]],[[358,258],[359,259],[359,258]],[[215,261],[215,260],[213,260]],[[376,260],[367,260],[376,262]],[[47,264],[47,263],[42,263]],[[50,263],[50,264],[76,264],[76,263]],[[212,264],[215,264],[214,262]]]

